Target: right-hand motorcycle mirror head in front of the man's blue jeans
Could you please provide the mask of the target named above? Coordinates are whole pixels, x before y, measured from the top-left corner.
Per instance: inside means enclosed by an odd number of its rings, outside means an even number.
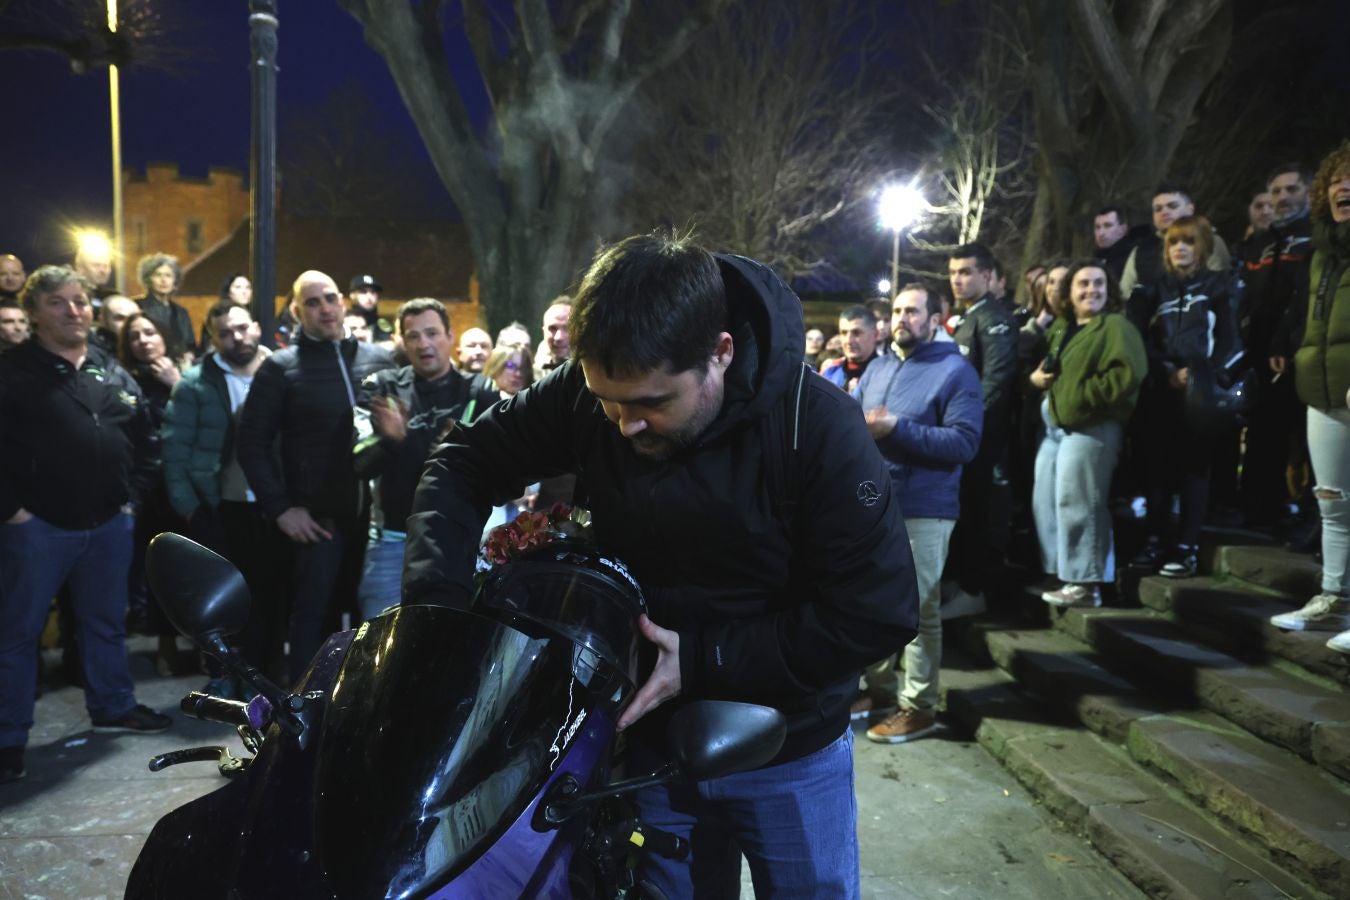
[[[767,706],[698,700],[671,716],[670,735],[680,775],[701,781],[772,760],[783,748],[787,719]]]

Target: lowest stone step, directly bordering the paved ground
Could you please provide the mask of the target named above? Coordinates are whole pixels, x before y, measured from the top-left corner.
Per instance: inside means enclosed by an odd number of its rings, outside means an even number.
[[[942,671],[948,715],[1149,896],[1319,896],[999,669]]]

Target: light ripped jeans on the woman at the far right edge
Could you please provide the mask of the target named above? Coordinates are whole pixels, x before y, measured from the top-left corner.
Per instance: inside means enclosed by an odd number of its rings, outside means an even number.
[[[1322,591],[1350,588],[1350,409],[1308,407],[1308,455],[1322,510]]]

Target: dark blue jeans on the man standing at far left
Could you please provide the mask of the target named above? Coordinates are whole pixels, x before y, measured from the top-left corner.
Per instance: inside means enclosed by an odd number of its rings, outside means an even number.
[[[127,664],[127,572],[135,526],[126,513],[78,532],[38,517],[0,525],[0,746],[28,742],[38,638],[63,583],[70,584],[89,718],[116,719],[136,704]]]

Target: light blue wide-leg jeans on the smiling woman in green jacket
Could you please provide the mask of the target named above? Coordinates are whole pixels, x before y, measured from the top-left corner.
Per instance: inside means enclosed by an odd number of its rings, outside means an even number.
[[[1107,493],[1123,429],[1106,421],[1066,432],[1041,401],[1045,439],[1035,453],[1031,511],[1041,541],[1041,568],[1068,584],[1110,582],[1115,551]]]

